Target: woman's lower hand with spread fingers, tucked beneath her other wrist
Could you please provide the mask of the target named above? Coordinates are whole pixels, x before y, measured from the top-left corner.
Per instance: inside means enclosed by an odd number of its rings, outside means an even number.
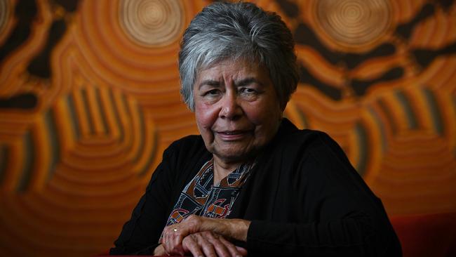
[[[246,256],[247,250],[235,246],[221,235],[210,231],[196,232],[188,235],[182,241],[182,248],[193,256],[207,257],[238,257]]]

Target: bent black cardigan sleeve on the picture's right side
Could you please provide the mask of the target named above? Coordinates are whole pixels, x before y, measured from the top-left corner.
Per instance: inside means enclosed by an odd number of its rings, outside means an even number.
[[[302,201],[293,207],[302,218],[252,220],[248,251],[259,256],[401,256],[380,199],[337,143],[322,133],[301,152],[290,187]]]

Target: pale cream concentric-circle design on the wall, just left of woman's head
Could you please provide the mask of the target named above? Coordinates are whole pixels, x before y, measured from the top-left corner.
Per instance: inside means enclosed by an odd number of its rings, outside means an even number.
[[[183,6],[177,0],[120,1],[119,19],[126,34],[144,46],[164,46],[179,37]]]

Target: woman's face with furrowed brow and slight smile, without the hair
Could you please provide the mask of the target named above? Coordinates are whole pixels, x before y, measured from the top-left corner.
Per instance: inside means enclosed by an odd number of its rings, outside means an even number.
[[[215,159],[245,162],[279,129],[283,110],[265,67],[219,62],[199,72],[193,90],[196,123]]]

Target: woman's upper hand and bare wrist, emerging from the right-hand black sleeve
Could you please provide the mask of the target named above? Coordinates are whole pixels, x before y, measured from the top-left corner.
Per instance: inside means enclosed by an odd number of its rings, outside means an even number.
[[[217,238],[222,236],[223,239],[216,240],[217,242],[220,240],[228,242],[227,239],[246,241],[249,225],[250,221],[248,220],[203,218],[191,215],[185,218],[185,220],[182,220],[181,223],[166,227],[163,230],[163,239],[161,243],[163,244],[166,253],[183,256],[186,252],[186,249],[184,249],[183,246],[183,240],[188,235],[196,234],[197,232],[211,232],[211,235],[217,235]],[[193,241],[198,238],[193,238]],[[213,237],[210,237],[206,240],[214,239]],[[187,241],[189,241],[189,243],[192,242],[191,239],[187,239]],[[200,240],[199,242],[203,241]]]

